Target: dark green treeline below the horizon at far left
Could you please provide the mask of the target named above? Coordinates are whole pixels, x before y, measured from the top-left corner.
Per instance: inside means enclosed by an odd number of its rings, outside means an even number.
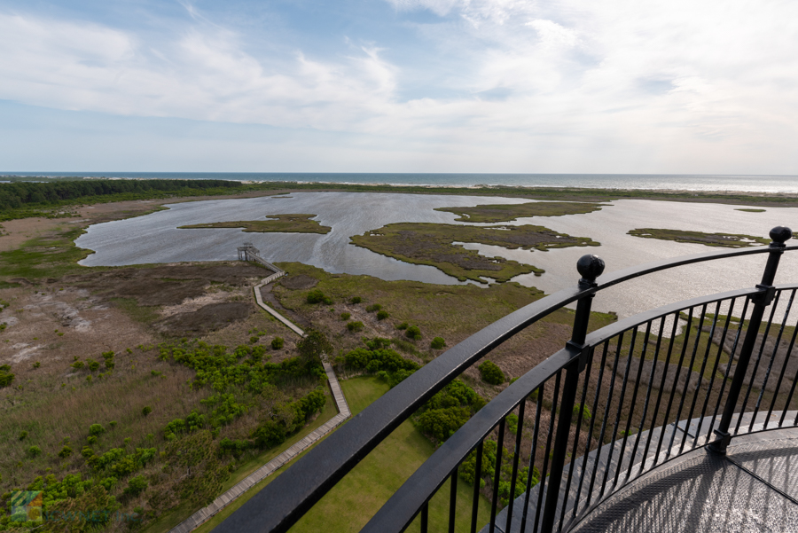
[[[0,212],[28,207],[59,206],[84,198],[124,195],[158,197],[162,195],[212,194],[241,188],[243,184],[223,179],[92,179],[55,183],[16,182],[0,184]]]

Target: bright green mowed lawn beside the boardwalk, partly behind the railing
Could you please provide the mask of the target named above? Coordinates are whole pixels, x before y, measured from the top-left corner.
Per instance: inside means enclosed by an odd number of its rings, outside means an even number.
[[[342,381],[341,388],[353,414],[362,411],[388,390],[383,381],[373,377]],[[291,529],[292,533],[359,531],[433,452],[434,446],[426,437],[411,422],[403,422],[302,517]],[[430,505],[430,530],[447,530],[449,498],[450,484],[446,482]],[[458,531],[470,530],[472,502],[473,485],[459,480],[455,521]],[[480,498],[479,527],[489,518],[488,500]],[[419,531],[418,519],[408,531]]]

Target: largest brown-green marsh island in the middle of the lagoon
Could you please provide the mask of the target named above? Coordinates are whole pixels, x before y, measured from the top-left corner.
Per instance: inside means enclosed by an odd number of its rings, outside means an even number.
[[[467,250],[455,242],[473,242],[510,249],[547,250],[548,248],[599,246],[587,237],[571,237],[543,226],[463,226],[439,223],[392,223],[379,230],[350,237],[359,247],[413,264],[427,264],[460,281],[485,278],[507,281],[520,274],[544,270],[532,265],[485,257],[476,250]]]

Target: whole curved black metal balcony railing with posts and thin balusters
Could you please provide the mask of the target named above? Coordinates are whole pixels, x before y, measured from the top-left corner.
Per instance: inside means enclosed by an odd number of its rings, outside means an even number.
[[[798,285],[773,286],[792,232],[771,245],[690,255],[596,279],[585,255],[577,286],[475,333],[351,419],[217,531],[286,531],[369,451],[431,396],[491,349],[554,310],[576,303],[564,349],[505,388],[435,451],[363,531],[428,530],[430,501],[449,482],[446,530],[567,530],[639,475],[700,446],[724,453],[734,435],[798,424],[793,404]],[[588,334],[591,299],[630,278],[680,265],[767,254],[762,283],[679,302]],[[763,320],[765,313],[768,318]],[[731,379],[731,382],[729,381]],[[747,411],[749,405],[753,411]],[[517,417],[517,423],[510,415]],[[506,446],[506,448],[505,448]],[[510,451],[512,450],[512,451]],[[473,465],[472,513],[458,523],[458,482]],[[458,480],[459,478],[459,480]],[[484,485],[484,486],[483,486]],[[448,502],[445,500],[448,499]],[[481,516],[481,502],[489,515]],[[487,514],[487,513],[486,513]],[[416,525],[413,526],[414,528]]]

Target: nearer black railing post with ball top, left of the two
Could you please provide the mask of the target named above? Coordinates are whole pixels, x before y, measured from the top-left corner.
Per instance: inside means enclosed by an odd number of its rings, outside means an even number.
[[[576,270],[582,274],[579,288],[586,290],[597,286],[596,278],[604,272],[604,261],[598,255],[583,255],[576,262]],[[559,405],[559,420],[557,422],[557,436],[554,441],[554,455],[552,457],[552,472],[546,490],[546,503],[544,516],[541,522],[541,532],[551,533],[554,528],[554,519],[557,514],[559,500],[559,485],[562,481],[562,471],[565,465],[568,437],[571,430],[571,418],[574,416],[576,391],[579,384],[579,374],[584,370],[590,350],[584,345],[587,335],[587,326],[591,317],[591,303],[594,293],[586,294],[576,303],[574,318],[574,331],[567,347],[579,353],[571,364],[566,367],[565,384],[562,390],[562,402]]]

